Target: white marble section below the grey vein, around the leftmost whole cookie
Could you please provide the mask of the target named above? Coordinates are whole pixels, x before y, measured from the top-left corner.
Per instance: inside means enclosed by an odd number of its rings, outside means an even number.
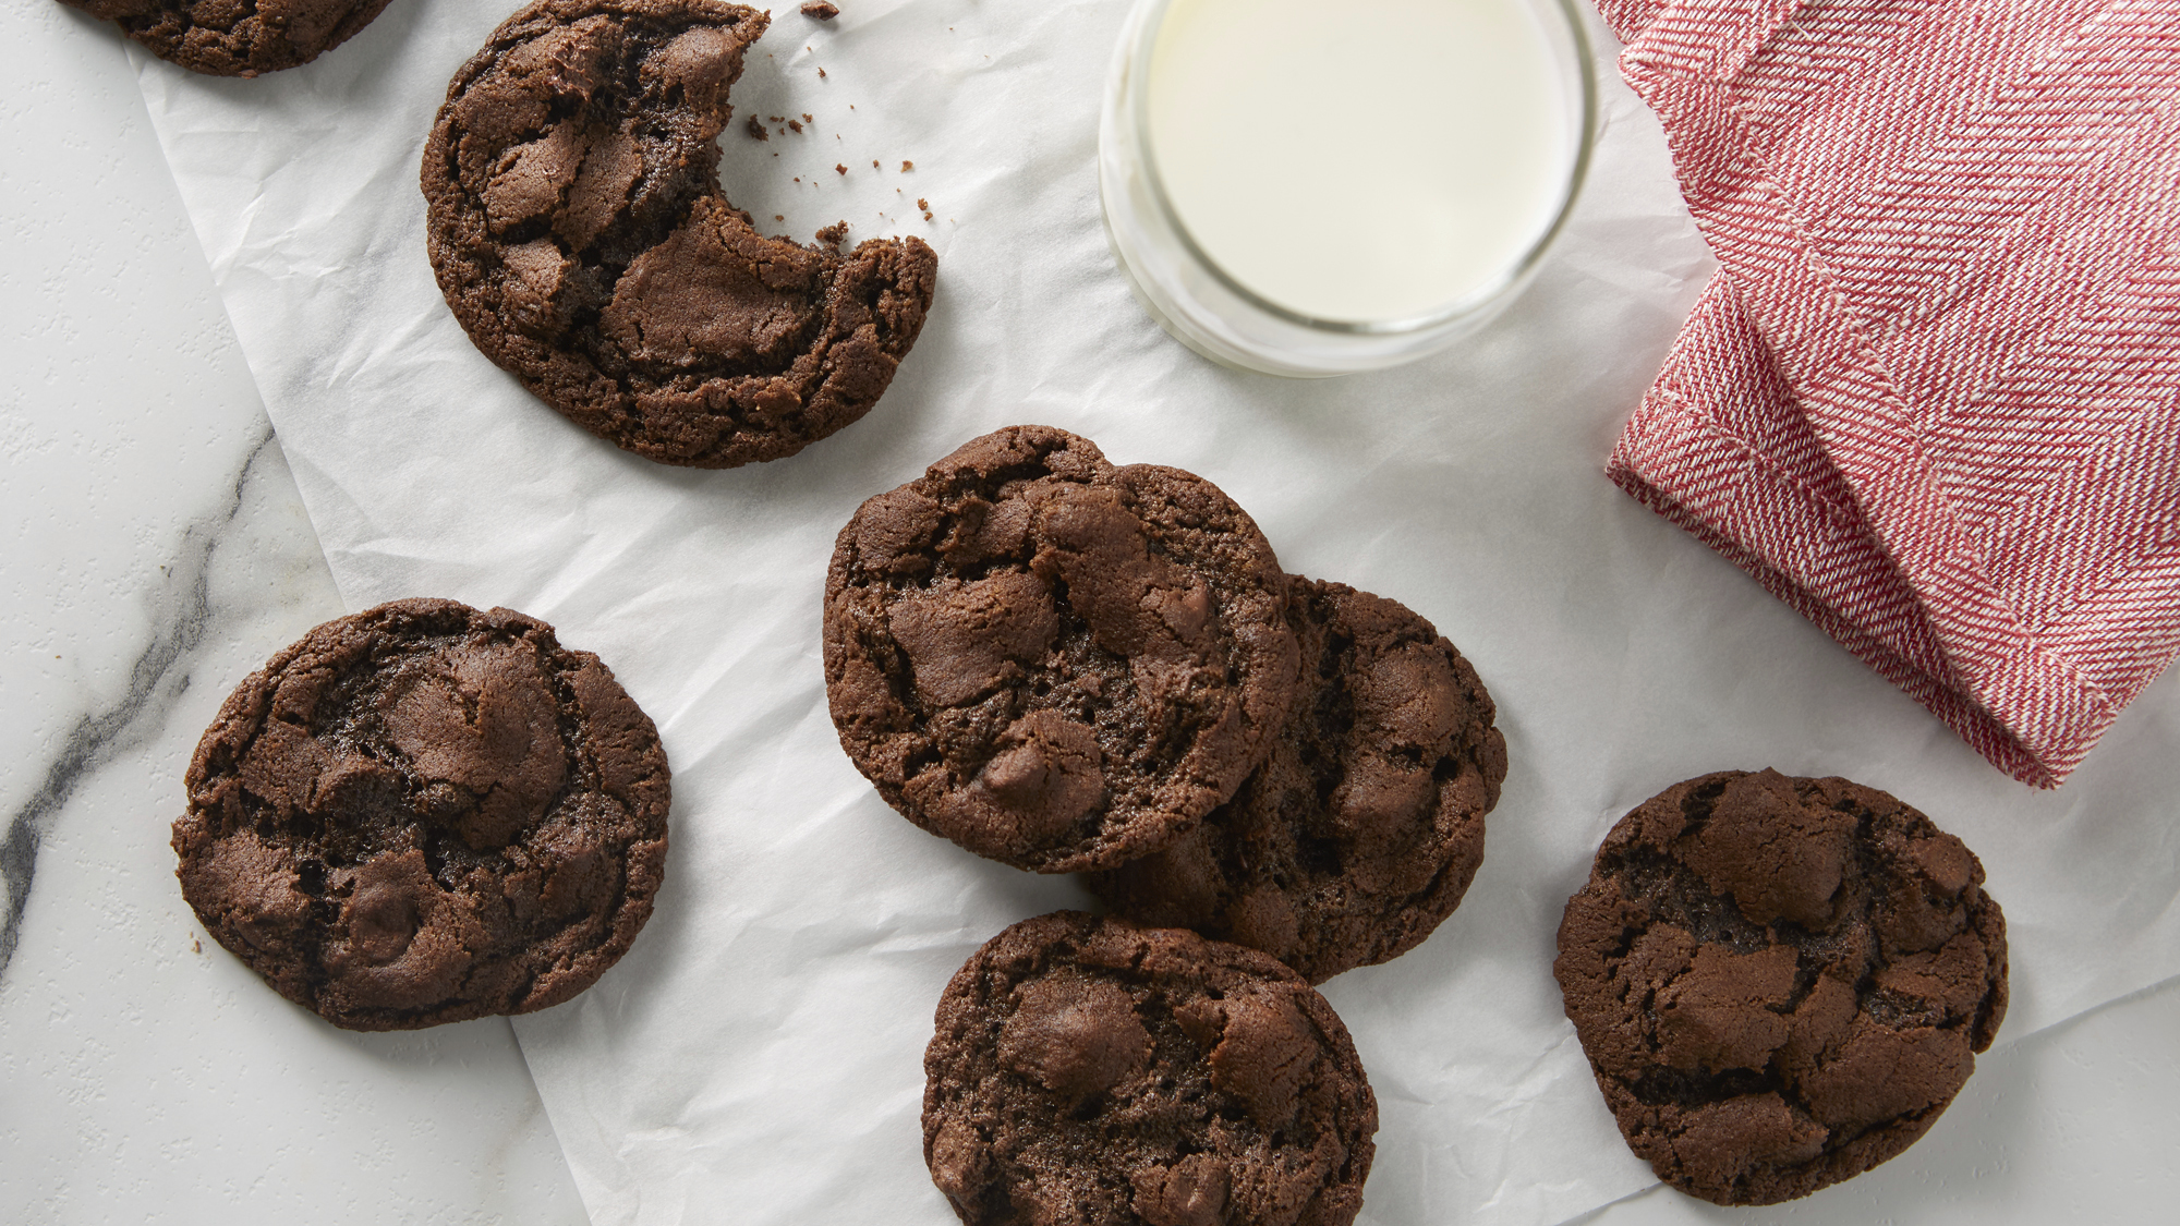
[[[181,901],[166,831],[198,733],[342,613],[262,421],[214,493],[148,580],[129,687],[11,814],[0,1219],[582,1222],[506,1021],[338,1032]]]

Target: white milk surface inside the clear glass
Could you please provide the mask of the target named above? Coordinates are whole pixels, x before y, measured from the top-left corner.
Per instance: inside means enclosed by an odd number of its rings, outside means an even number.
[[[1182,229],[1260,299],[1408,321],[1502,286],[1576,155],[1522,0],[1173,0],[1147,92]]]

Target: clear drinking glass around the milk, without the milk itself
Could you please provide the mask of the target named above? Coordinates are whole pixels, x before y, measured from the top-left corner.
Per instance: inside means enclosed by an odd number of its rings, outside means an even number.
[[[1410,305],[1382,318],[1358,312],[1319,316],[1284,305],[1223,268],[1206,251],[1216,244],[1190,233],[1168,194],[1168,177],[1160,170],[1151,129],[1153,57],[1168,9],[1179,2],[1188,0],[1138,0],[1129,11],[1105,81],[1099,120],[1099,196],[1105,236],[1129,288],[1160,327],[1227,366],[1286,377],[1345,375],[1397,366],[1452,345],[1489,321],[1530,279],[1574,205],[1596,129],[1589,41],[1572,0],[1500,0],[1526,9],[1541,31],[1543,61],[1552,76],[1541,87],[1550,89],[1543,96],[1559,103],[1559,118],[1539,122],[1565,129],[1559,133],[1565,142],[1559,146],[1563,151],[1559,192],[1535,214],[1535,238],[1526,247],[1515,247],[1515,255],[1493,275],[1454,297],[1426,308]],[[1339,20],[1343,13],[1339,4],[1323,4],[1319,11],[1328,13],[1328,20]],[[1356,7],[1349,13],[1369,11]],[[1297,81],[1295,87],[1299,105],[1310,83]],[[1463,122],[1463,116],[1445,116],[1445,122]],[[1415,155],[1432,155],[1428,133]]]

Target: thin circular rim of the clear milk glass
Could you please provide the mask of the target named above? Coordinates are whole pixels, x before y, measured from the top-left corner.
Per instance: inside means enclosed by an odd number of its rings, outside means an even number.
[[[1323,318],[1308,312],[1297,312],[1288,305],[1275,303],[1264,295],[1245,286],[1238,277],[1225,271],[1210,251],[1197,242],[1197,236],[1188,231],[1188,223],[1182,220],[1179,209],[1173,207],[1173,196],[1166,194],[1166,179],[1158,170],[1158,146],[1151,142],[1151,118],[1149,118],[1149,96],[1151,96],[1151,57],[1158,50],[1158,31],[1164,26],[1166,9],[1173,0],[1138,0],[1134,22],[1127,33],[1134,46],[1127,48],[1127,79],[1121,96],[1123,122],[1127,124],[1129,137],[1138,151],[1142,164],[1142,177],[1149,188],[1153,207],[1160,220],[1164,220],[1173,236],[1179,240],[1182,251],[1188,253],[1203,271],[1219,281],[1221,288],[1262,310],[1280,321],[1339,334],[1339,336],[1406,336],[1417,332],[1430,332],[1439,325],[1458,321],[1467,314],[1478,312],[1489,305],[1509,286],[1519,284],[1541,260],[1552,240],[1567,225],[1567,216],[1574,212],[1574,201],[1583,192],[1583,181],[1589,175],[1589,155],[1596,146],[1596,124],[1598,124],[1598,81],[1591,65],[1589,31],[1583,26],[1583,17],[1574,7],[1574,0],[1526,0],[1530,7],[1550,7],[1559,13],[1561,26],[1572,44],[1574,76],[1581,87],[1581,122],[1574,131],[1574,161],[1567,166],[1567,177],[1559,205],[1552,209],[1552,223],[1546,225],[1537,238],[1522,251],[1522,257],[1511,262],[1498,279],[1472,290],[1450,303],[1434,308],[1424,314],[1402,316],[1402,318],[1376,318],[1376,321],[1354,321],[1354,318]]]

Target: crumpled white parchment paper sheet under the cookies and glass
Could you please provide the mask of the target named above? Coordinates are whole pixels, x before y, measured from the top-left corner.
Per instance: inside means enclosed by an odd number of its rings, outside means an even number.
[[[1711,273],[1609,50],[1596,170],[1535,288],[1424,364],[1280,382],[1168,340],[1105,249],[1092,157],[1123,9],[776,9],[739,113],[815,122],[763,144],[730,129],[728,196],[804,238],[835,218],[922,233],[940,292],[868,419],[724,473],[582,434],[440,301],[419,157],[447,79],[512,4],[395,0],[259,81],[140,57],[344,600],[541,615],[665,735],[656,916],[593,990],[517,1021],[595,1222],[953,1219],[920,1161],[931,1010],[979,942],[1086,899],[916,831],[863,783],[826,718],[820,587],[863,497],[1016,421],[1212,478],[1288,569],[1432,617],[1500,702],[1513,774],[1461,912],[1325,986],[1384,1117],[1365,1222],[1546,1224],[1650,1182],[1561,1017],[1552,936],[1604,829],[1696,772],[1849,774],[1966,838],[2010,918],[2001,1041],[2180,973],[2173,678],[2064,790],[2030,792],[1602,478]],[[1295,105],[1341,100],[1297,81]],[[1295,201],[1295,225],[1341,218]]]

